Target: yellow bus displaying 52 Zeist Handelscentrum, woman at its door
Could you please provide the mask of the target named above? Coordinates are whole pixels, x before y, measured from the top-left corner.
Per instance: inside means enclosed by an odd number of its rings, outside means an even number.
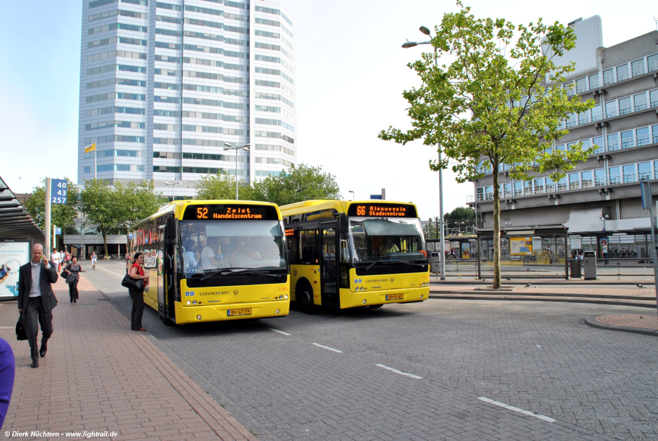
[[[144,302],[166,325],[288,315],[286,239],[276,204],[177,200],[131,227],[128,237],[150,275]]]

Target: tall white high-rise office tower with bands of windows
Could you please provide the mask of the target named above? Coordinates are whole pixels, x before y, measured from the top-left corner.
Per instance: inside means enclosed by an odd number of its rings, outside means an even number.
[[[277,3],[84,1],[78,184],[153,179],[191,197],[203,175],[235,175],[236,152],[240,179],[288,170],[295,81],[295,26]]]

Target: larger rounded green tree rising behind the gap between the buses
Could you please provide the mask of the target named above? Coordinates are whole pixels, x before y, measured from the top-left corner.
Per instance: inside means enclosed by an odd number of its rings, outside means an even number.
[[[309,199],[340,199],[336,176],[322,172],[322,167],[297,164],[278,176],[268,176],[253,185],[256,200],[279,206]]]

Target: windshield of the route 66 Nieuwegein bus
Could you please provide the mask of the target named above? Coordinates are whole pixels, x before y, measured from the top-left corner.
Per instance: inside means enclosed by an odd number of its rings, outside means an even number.
[[[352,262],[426,260],[418,218],[349,218]]]

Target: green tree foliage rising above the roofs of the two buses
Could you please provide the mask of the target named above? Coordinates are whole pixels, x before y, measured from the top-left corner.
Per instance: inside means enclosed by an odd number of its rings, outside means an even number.
[[[297,164],[287,173],[268,176],[249,185],[240,181],[240,200],[262,200],[286,205],[309,199],[338,199],[341,197],[336,176],[322,172],[322,167]],[[236,180],[226,174],[202,177],[197,184],[199,199],[235,199]]]

